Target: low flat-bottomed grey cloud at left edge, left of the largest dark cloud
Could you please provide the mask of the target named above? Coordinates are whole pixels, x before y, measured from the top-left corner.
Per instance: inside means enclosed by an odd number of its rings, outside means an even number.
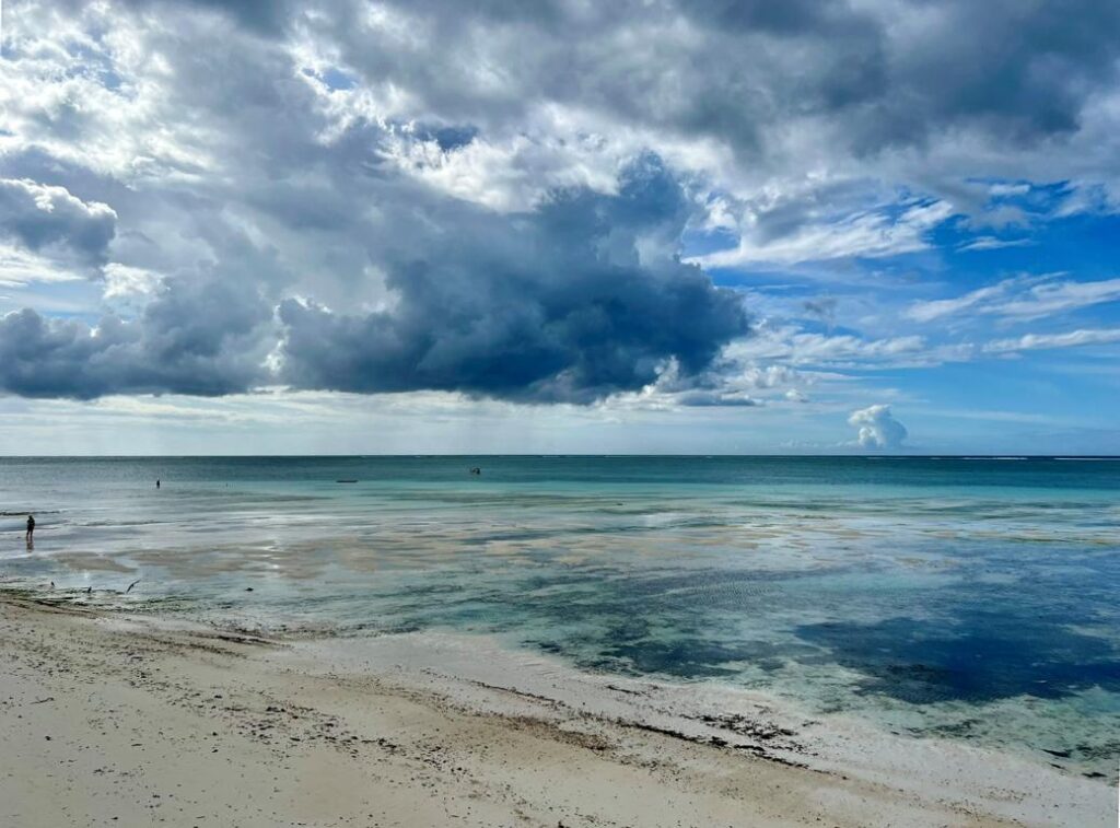
[[[93,399],[113,393],[204,397],[263,378],[270,307],[252,287],[209,273],[169,280],[134,320],[85,323],[25,309],[0,318],[0,391]]]

